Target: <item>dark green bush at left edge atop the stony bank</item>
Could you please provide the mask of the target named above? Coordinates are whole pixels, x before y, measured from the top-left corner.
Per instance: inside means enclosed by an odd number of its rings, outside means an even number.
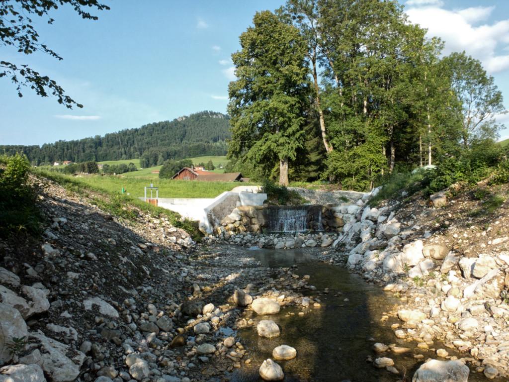
[[[28,182],[30,162],[24,155],[0,157],[0,237],[39,233],[42,219],[37,195]]]

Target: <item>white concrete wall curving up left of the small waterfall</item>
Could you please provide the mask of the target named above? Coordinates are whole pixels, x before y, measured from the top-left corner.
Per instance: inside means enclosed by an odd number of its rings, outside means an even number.
[[[261,206],[267,194],[258,193],[258,186],[237,186],[230,192],[224,192],[213,199],[192,198],[157,198],[157,206],[180,213],[183,217],[199,221],[199,229],[211,234],[221,220],[229,215],[235,207]],[[152,201],[155,198],[139,198]]]

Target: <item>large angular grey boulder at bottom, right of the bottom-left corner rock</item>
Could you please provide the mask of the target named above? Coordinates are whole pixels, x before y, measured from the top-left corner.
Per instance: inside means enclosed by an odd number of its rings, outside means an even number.
[[[27,348],[41,350],[39,365],[52,381],[67,382],[78,376],[85,354],[81,351],[71,351],[68,345],[46,337],[41,331],[30,333],[30,338],[34,338],[35,341],[31,342]],[[67,354],[72,354],[72,357],[67,357]]]

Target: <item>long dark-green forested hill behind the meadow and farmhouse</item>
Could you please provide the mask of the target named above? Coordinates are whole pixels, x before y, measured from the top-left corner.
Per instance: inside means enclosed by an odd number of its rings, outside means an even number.
[[[33,165],[71,160],[140,158],[141,167],[162,165],[166,159],[226,155],[230,117],[210,111],[155,122],[100,137],[58,141],[40,146],[0,146],[0,152],[24,153]]]

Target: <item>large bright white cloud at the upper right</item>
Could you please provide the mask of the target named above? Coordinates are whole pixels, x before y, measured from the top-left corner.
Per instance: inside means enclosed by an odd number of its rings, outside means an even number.
[[[509,69],[509,56],[497,53],[509,44],[509,19],[480,24],[495,7],[446,10],[434,0],[410,0],[406,5],[405,13],[411,22],[427,28],[428,36],[438,36],[445,41],[444,54],[465,50],[469,56],[480,60],[490,74]]]

